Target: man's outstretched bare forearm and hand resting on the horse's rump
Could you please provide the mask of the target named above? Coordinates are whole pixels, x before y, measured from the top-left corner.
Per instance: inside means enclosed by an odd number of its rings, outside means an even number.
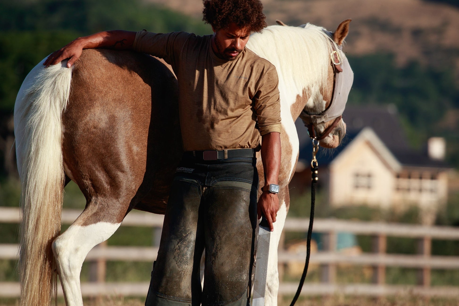
[[[79,37],[70,44],[53,52],[43,63],[46,67],[56,65],[68,58],[67,67],[72,67],[78,60],[83,49],[109,48],[118,50],[129,50],[134,44],[136,32],[112,30],[95,33],[85,37]]]

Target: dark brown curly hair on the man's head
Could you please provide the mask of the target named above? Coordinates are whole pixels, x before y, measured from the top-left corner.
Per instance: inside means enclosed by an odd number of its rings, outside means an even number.
[[[240,28],[260,33],[266,27],[266,16],[260,0],[203,0],[203,21],[215,30],[225,29],[234,22]]]

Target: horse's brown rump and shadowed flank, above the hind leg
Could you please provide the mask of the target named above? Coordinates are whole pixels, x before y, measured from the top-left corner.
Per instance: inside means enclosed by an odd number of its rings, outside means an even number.
[[[121,222],[134,206],[164,213],[182,152],[177,80],[164,62],[129,51],[84,50],[73,67],[62,125],[66,174],[86,199],[130,203],[118,216],[101,210],[98,221]]]

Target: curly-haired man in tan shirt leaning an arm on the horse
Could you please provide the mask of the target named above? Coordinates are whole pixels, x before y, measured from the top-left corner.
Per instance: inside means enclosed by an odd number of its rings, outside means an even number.
[[[263,6],[259,0],[203,2],[203,20],[213,35],[107,31],[75,39],[44,63],[69,58],[71,67],[85,48],[128,49],[163,58],[177,76],[185,153],[171,187],[146,305],[248,304],[255,216],[258,210],[273,230],[279,209],[277,72],[245,48],[250,33],[266,26]],[[260,138],[265,186],[257,204]]]

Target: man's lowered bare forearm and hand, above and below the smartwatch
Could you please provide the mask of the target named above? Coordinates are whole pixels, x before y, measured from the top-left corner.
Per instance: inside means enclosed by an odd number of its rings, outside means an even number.
[[[264,185],[278,185],[280,170],[280,133],[271,132],[262,136],[261,157],[263,161]],[[263,191],[257,204],[258,219],[266,217],[271,232],[274,231],[273,222],[276,222],[277,211],[279,210],[279,198],[277,194]]]

